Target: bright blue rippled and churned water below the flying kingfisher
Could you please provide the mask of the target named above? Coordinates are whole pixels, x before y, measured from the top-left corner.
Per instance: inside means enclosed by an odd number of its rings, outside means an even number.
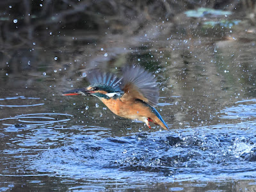
[[[1,138],[9,141],[3,150],[5,168],[0,177],[26,178],[31,189],[47,184],[45,177],[61,181],[56,189],[65,184],[69,190],[180,183],[180,188],[170,188],[173,191],[187,189],[186,182],[207,186],[208,182],[256,179],[255,99],[236,102],[218,114],[215,118],[220,121],[236,119],[239,123],[220,122],[170,132],[144,129],[113,136],[111,127],[69,126],[65,122],[75,119],[68,114],[4,118]],[[30,120],[24,121],[24,117]],[[10,120],[22,124],[4,124]],[[14,137],[9,136],[12,132]],[[6,189],[12,188],[13,182],[7,183]]]

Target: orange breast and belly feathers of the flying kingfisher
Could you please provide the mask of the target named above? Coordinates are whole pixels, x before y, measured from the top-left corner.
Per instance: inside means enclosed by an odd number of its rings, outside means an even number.
[[[152,110],[140,101],[123,102],[121,99],[101,99],[102,102],[116,115],[130,119],[140,119],[141,116],[154,118]]]

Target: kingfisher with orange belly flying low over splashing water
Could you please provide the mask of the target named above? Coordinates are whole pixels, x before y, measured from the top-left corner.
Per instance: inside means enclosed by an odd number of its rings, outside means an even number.
[[[159,100],[156,78],[140,66],[125,66],[122,77],[100,68],[86,71],[90,85],[70,90],[63,95],[92,95],[99,98],[115,115],[140,120],[151,129],[149,122],[170,130],[155,109]]]

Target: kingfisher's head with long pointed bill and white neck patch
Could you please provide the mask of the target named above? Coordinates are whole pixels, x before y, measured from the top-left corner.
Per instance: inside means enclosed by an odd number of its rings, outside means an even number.
[[[108,84],[95,83],[87,86],[86,88],[81,88],[77,90],[70,90],[64,92],[63,95],[92,95],[98,97],[99,99],[116,99],[122,96],[122,92],[116,91],[113,87]]]

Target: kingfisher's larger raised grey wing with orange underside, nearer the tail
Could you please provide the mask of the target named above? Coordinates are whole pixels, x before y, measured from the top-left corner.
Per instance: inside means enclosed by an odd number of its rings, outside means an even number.
[[[140,99],[150,106],[156,106],[159,99],[159,88],[153,74],[139,66],[126,66],[122,71],[121,88],[124,91],[122,99],[127,101]]]

